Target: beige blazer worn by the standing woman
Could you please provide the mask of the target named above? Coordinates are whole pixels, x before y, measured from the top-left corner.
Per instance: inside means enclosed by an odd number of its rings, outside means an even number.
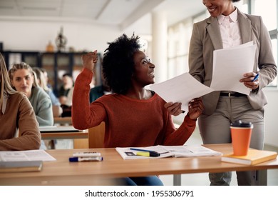
[[[260,16],[243,14],[238,9],[238,21],[242,44],[254,41],[257,45],[254,61],[254,72],[259,71],[259,89],[251,91],[248,99],[254,109],[261,109],[267,104],[262,89],[277,76],[277,66],[272,55],[272,44],[269,32]],[[222,49],[222,39],[217,18],[210,16],[194,24],[189,51],[189,72],[198,81],[210,86],[212,81],[213,51]],[[246,71],[249,72],[249,71]],[[202,96],[205,104],[203,114],[210,115],[215,111],[220,91],[213,91]]]

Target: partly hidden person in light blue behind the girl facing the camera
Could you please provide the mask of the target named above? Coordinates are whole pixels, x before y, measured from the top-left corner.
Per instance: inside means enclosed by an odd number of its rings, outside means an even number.
[[[53,116],[58,117],[61,116],[63,109],[61,107],[59,99],[55,96],[52,89],[50,89],[46,84],[46,78],[43,74],[43,71],[38,67],[32,67],[33,71],[36,73],[36,77],[38,80],[38,85],[41,86],[41,88],[46,91],[46,93],[49,95],[52,103],[52,111]]]

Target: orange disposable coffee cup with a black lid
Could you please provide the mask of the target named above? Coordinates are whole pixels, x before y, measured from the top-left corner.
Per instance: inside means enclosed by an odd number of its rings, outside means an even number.
[[[246,156],[250,146],[253,124],[241,120],[230,124],[234,156]]]

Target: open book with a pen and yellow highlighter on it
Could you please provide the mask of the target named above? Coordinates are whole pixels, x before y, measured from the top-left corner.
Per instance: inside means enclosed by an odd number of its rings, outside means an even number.
[[[160,156],[138,156],[138,152],[133,149],[156,151]],[[123,159],[157,159],[165,157],[196,157],[196,156],[222,156],[221,152],[208,149],[201,145],[182,146],[147,146],[147,147],[117,147],[116,151]]]

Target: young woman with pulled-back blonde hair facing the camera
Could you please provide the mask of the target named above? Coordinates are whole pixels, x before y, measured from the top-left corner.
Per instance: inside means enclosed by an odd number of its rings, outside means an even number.
[[[9,69],[9,77],[11,85],[16,91],[24,93],[36,114],[36,120],[39,126],[53,126],[53,112],[51,99],[48,94],[38,86],[36,74],[32,70],[31,66],[21,62],[20,64],[14,64]],[[41,142],[41,149],[46,149],[44,142]]]

